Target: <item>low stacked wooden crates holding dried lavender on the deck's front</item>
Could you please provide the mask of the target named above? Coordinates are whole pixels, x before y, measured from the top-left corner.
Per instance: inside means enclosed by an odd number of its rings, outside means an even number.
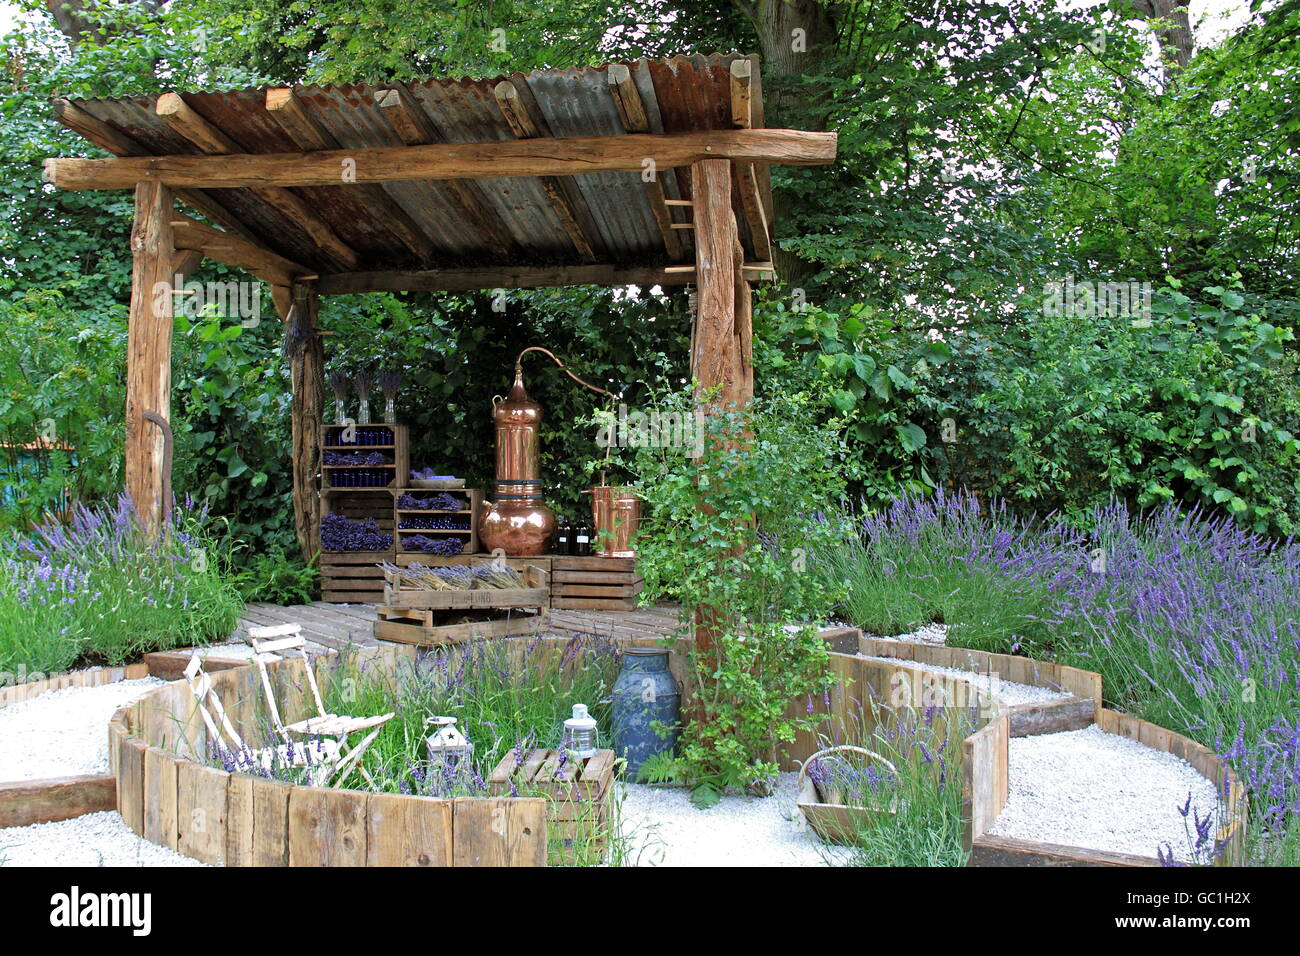
[[[550,623],[546,572],[540,567],[524,567],[520,584],[519,588],[433,591],[386,571],[384,604],[376,609],[374,636],[433,646],[477,637],[541,633]]]

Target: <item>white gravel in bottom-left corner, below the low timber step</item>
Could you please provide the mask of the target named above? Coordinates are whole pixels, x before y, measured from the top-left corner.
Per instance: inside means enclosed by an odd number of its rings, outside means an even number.
[[[203,866],[144,840],[114,810],[0,830],[3,866]]]

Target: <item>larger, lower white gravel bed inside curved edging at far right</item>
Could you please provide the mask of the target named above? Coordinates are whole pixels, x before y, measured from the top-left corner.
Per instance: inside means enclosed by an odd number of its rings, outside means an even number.
[[[1100,727],[1013,737],[1010,796],[996,836],[1154,857],[1169,847],[1188,861],[1192,809],[1216,812],[1214,784],[1183,760]]]

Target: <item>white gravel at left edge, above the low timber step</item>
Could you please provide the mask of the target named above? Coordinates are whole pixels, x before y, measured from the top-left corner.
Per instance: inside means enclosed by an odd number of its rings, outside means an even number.
[[[108,722],[157,678],[65,687],[0,710],[0,780],[108,774]]]

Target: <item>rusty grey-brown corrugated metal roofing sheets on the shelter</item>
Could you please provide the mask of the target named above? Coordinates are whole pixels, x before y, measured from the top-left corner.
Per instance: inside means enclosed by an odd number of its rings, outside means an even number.
[[[711,55],[625,62],[641,94],[651,133],[731,127],[731,64],[737,56]],[[608,66],[545,70],[489,79],[424,79],[403,88],[422,124],[442,142],[515,138],[498,107],[495,87],[512,81],[540,134],[620,135],[623,127],[607,81]],[[307,86],[295,95],[311,120],[338,147],[402,146],[403,139],[377,96],[390,86]],[[298,144],[265,108],[265,90],[182,94],[211,126],[250,153],[294,152]],[[155,96],[75,100],[73,105],[129,137],[150,155],[185,155],[198,147],[155,112]],[[760,116],[760,113],[758,113]],[[689,177],[659,170],[668,198],[689,198]],[[670,261],[645,185],[637,173],[564,177],[559,189],[598,263],[655,265]],[[439,267],[582,264],[546,183],[540,178],[386,182],[291,190],[359,258],[358,271]],[[382,191],[382,193],[381,193]],[[342,271],[311,232],[248,189],[207,190],[207,196],[269,248],[320,273]],[[404,213],[422,233],[417,255],[391,226]],[[681,212],[677,213],[679,221]],[[742,222],[741,217],[741,222]],[[741,226],[748,258],[754,258]],[[689,255],[689,230],[679,230]]]

